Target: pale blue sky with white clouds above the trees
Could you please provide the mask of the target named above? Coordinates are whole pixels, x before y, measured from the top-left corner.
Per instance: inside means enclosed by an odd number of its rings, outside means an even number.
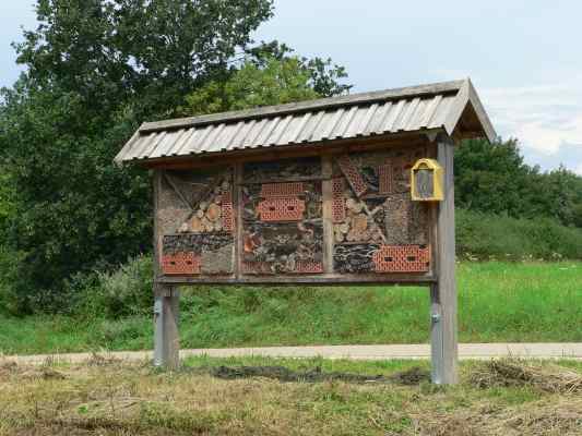
[[[582,174],[581,16],[579,0],[275,0],[253,38],[331,57],[353,92],[471,77],[527,164]],[[0,0],[0,86],[20,73],[22,26],[35,27],[33,1]]]

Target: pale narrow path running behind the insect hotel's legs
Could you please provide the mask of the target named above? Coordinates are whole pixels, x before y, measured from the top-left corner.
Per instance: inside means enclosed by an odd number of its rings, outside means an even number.
[[[152,351],[100,351],[104,358],[111,356],[122,360],[145,361],[152,359]],[[394,359],[429,359],[428,344],[394,344],[394,346],[311,346],[311,347],[262,347],[233,349],[195,349],[182,350],[181,358],[191,355],[209,355],[213,358],[260,355],[271,358],[316,358],[325,359],[359,359],[359,360],[394,360]],[[582,343],[461,343],[460,359],[494,359],[503,356],[533,359],[575,359],[582,360]],[[83,362],[93,358],[93,353],[38,354],[0,356],[0,360],[17,363],[44,363],[47,361]]]

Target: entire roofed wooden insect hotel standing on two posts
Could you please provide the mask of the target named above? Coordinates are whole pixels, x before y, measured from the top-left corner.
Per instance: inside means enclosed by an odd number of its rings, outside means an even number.
[[[116,161],[153,170],[154,363],[178,365],[179,286],[414,284],[455,383],[453,154],[479,136],[468,80],[142,124]]]

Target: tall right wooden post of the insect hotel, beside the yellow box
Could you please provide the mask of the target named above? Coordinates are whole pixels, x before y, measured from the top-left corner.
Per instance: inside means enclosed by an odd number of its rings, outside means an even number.
[[[437,138],[437,157],[444,170],[444,199],[436,207],[436,272],[430,287],[430,343],[432,383],[458,383],[456,283],[454,276],[454,144],[449,136]]]

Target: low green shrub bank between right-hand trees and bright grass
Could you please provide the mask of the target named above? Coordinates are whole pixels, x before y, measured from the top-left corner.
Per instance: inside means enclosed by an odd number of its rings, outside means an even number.
[[[582,259],[582,229],[549,218],[515,219],[456,209],[456,254],[478,259]]]

